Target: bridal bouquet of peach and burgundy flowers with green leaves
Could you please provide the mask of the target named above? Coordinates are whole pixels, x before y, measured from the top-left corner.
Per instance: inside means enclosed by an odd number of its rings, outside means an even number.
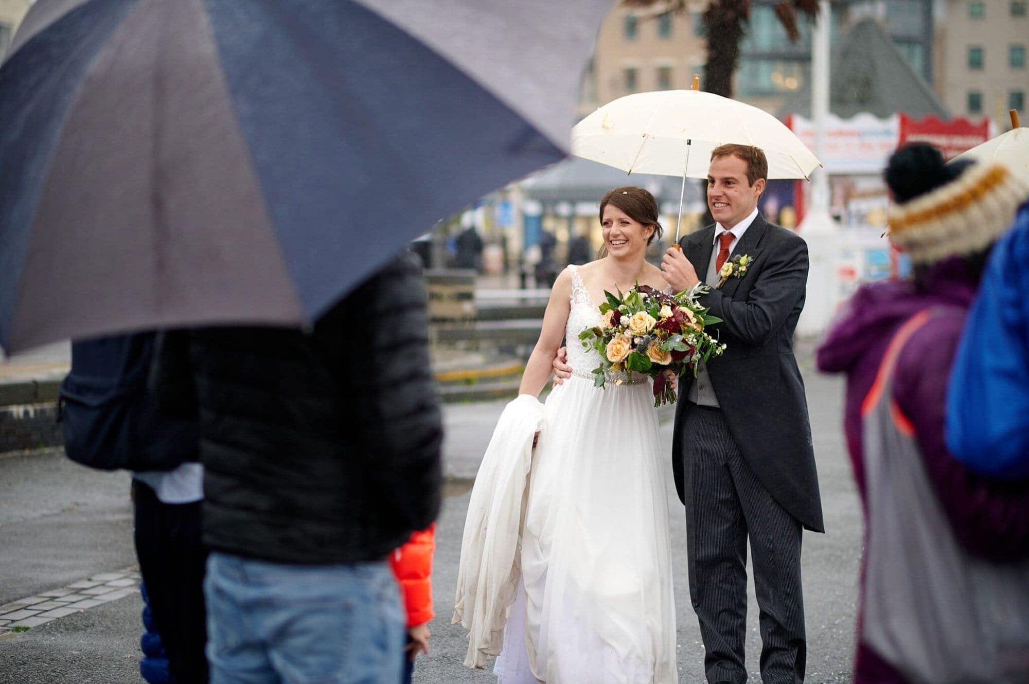
[[[698,303],[695,297],[702,291],[673,295],[636,285],[625,294],[604,292],[603,321],[579,335],[583,347],[600,353],[600,365],[593,370],[596,386],[604,387],[608,372],[624,370],[631,377],[636,371],[653,377],[654,406],[674,403],[675,392],[664,371],[678,375],[690,368],[696,375],[698,364],[725,351],[725,345],[704,330],[721,319]]]

